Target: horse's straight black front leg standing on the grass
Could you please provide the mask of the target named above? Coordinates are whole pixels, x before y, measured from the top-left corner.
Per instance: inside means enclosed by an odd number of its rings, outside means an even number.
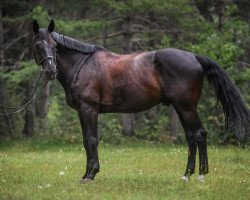
[[[83,131],[83,144],[87,155],[86,173],[83,176],[83,182],[91,181],[99,172],[99,159],[98,159],[98,108],[88,104],[81,104],[79,117]]]

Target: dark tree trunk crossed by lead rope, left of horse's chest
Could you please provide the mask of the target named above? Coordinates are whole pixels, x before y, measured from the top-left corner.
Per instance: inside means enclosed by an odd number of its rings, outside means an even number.
[[[26,95],[25,102],[31,99],[34,89],[35,89],[35,83],[33,81],[28,82],[26,86],[26,92],[25,92],[25,95]],[[23,135],[26,138],[34,135],[34,126],[35,126],[34,110],[35,110],[35,102],[31,101],[25,113]]]

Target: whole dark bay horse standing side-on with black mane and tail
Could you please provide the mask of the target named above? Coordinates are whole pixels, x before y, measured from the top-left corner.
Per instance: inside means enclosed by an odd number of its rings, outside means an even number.
[[[249,134],[250,112],[234,83],[207,57],[178,49],[119,55],[104,47],[82,43],[33,23],[35,60],[48,79],[57,78],[66,101],[78,112],[87,155],[83,182],[99,172],[97,119],[99,113],[135,113],[157,104],[172,104],[189,146],[183,180],[195,171],[199,152],[199,180],[208,173],[207,133],[197,113],[203,79],[214,87],[226,125],[238,138]]]

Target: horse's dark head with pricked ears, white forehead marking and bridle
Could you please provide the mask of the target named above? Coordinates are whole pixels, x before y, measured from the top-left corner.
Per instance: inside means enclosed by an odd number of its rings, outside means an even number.
[[[39,28],[36,20],[33,22],[34,55],[36,63],[45,71],[47,79],[52,80],[57,75],[56,69],[56,42],[53,40],[51,33],[54,31],[55,24],[51,20],[47,29]]]

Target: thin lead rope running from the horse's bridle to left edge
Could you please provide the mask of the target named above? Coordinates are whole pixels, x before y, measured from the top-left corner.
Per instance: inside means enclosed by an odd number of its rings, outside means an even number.
[[[23,105],[21,105],[21,106],[15,106],[15,107],[4,106],[4,105],[1,105],[1,104],[0,104],[0,107],[3,108],[4,110],[5,110],[5,109],[18,109],[18,110],[16,110],[16,111],[13,111],[13,112],[10,112],[10,113],[0,113],[0,115],[1,115],[1,116],[9,116],[9,115],[13,115],[13,114],[22,112],[25,108],[28,107],[28,105],[31,103],[32,100],[36,100],[36,97],[37,97],[38,95],[41,94],[42,89],[43,89],[43,88],[47,85],[47,83],[49,82],[49,81],[47,80],[47,81],[43,84],[43,86],[40,88],[40,91],[36,94],[36,90],[37,90],[37,88],[38,88],[38,84],[39,84],[39,82],[40,82],[41,76],[42,76],[42,71],[41,71],[40,76],[39,76],[39,78],[38,78],[38,80],[37,80],[37,82],[36,82],[36,86],[35,86],[34,92],[33,92],[33,94],[32,94],[32,97],[31,97],[25,104],[23,104]],[[19,108],[20,108],[20,109],[19,109]]]

